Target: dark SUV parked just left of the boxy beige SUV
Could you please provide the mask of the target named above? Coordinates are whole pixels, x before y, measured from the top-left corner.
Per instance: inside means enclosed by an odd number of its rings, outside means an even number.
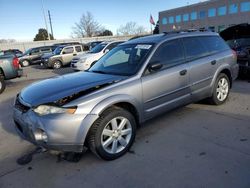
[[[42,55],[52,53],[56,47],[56,45],[52,45],[30,48],[19,57],[20,65],[26,67],[33,64],[40,64]]]

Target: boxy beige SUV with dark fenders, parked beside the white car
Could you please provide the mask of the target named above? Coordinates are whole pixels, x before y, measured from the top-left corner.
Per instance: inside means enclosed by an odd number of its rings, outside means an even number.
[[[70,64],[74,56],[82,53],[84,53],[82,45],[58,46],[52,54],[42,57],[41,65],[47,68],[59,69]]]

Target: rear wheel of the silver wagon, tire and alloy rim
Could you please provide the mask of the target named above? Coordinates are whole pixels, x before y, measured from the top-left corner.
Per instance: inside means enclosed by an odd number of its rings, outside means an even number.
[[[229,91],[229,78],[226,74],[220,73],[215,81],[213,95],[209,98],[209,102],[214,105],[223,104],[228,98]]]

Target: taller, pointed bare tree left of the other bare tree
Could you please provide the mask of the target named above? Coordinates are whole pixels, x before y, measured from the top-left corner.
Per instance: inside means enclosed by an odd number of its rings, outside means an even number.
[[[83,14],[80,21],[73,26],[72,35],[75,37],[92,37],[98,34],[101,29],[102,27],[94,19],[94,16],[90,12],[87,12]]]

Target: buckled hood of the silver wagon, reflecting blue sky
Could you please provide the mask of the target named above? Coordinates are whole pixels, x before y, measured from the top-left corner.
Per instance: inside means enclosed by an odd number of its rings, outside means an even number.
[[[103,86],[125,79],[125,76],[99,74],[91,72],[72,73],[39,81],[24,88],[19,97],[25,103],[35,107],[54,103],[76,94],[87,95]]]

